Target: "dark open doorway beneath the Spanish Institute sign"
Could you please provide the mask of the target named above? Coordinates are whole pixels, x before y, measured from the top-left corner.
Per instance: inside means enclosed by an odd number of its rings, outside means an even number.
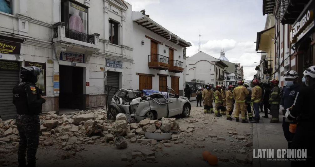
[[[59,108],[85,110],[83,67],[59,66]]]

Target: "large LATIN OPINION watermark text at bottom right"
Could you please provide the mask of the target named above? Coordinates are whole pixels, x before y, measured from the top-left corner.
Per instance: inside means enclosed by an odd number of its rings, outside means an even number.
[[[274,149],[253,149],[253,158],[306,160],[306,149],[277,149],[276,152]]]

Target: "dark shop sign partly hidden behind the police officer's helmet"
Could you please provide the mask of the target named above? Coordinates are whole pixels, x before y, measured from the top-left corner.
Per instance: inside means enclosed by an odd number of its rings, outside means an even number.
[[[38,63],[38,62],[25,62],[25,67],[28,66],[35,66],[35,67],[39,67],[43,70],[43,74],[40,73],[38,75],[38,80],[36,86],[42,90],[43,95],[46,95],[46,63]]]

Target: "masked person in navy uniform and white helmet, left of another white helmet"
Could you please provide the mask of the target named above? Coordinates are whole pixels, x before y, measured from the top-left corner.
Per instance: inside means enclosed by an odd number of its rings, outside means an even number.
[[[283,89],[283,96],[280,101],[280,111],[282,112],[282,129],[284,133],[284,137],[288,142],[288,148],[292,143],[292,138],[294,133],[289,131],[290,123],[285,121],[285,111],[290,108],[295,100],[296,94],[300,91],[300,86],[298,84],[298,73],[293,70],[289,70],[283,75],[285,87]]]

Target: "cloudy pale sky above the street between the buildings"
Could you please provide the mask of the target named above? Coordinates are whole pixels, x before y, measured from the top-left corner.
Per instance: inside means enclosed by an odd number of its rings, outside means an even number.
[[[264,30],[262,0],[126,0],[133,11],[146,10],[154,21],[190,42],[187,55],[201,51],[218,58],[224,49],[230,62],[241,63],[244,79],[251,80],[259,65],[257,32]],[[258,62],[258,63],[255,63]]]

